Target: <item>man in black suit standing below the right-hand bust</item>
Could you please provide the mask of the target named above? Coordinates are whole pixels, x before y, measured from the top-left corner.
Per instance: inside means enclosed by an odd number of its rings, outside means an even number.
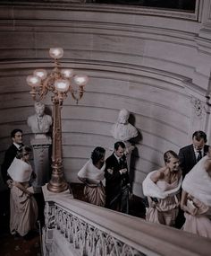
[[[124,151],[124,143],[118,141],[105,160],[105,207],[128,214],[130,178]]]

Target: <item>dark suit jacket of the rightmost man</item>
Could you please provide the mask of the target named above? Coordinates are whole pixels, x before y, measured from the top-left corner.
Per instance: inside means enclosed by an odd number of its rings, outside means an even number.
[[[205,156],[208,152],[208,145],[204,146],[204,155]],[[184,146],[179,151],[179,158],[180,158],[180,165],[181,165],[181,171],[182,176],[184,176],[190,172],[190,170],[193,168],[193,166],[197,163],[196,154],[194,152],[193,145]]]

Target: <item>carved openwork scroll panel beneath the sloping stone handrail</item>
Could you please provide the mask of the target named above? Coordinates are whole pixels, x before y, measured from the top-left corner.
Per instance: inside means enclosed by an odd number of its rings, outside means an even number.
[[[90,225],[79,216],[74,216],[69,211],[52,205],[46,211],[48,215],[47,227],[55,228],[63,237],[72,244],[74,250],[80,255],[87,256],[144,256],[129,244],[100,230],[99,226]],[[53,218],[54,216],[54,218]],[[52,221],[54,219],[54,221]]]

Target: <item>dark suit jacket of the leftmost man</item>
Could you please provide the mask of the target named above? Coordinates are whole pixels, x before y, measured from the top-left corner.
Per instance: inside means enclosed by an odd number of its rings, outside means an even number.
[[[13,159],[16,156],[17,152],[18,152],[18,148],[13,144],[5,152],[4,162],[2,163],[2,170],[1,170],[4,183],[6,183],[6,181],[11,179],[10,176],[7,174],[7,170],[10,167],[11,163],[13,162]]]

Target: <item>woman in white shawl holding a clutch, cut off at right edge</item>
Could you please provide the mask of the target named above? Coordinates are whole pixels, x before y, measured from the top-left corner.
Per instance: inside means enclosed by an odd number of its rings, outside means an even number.
[[[184,231],[211,238],[211,148],[182,182]]]

